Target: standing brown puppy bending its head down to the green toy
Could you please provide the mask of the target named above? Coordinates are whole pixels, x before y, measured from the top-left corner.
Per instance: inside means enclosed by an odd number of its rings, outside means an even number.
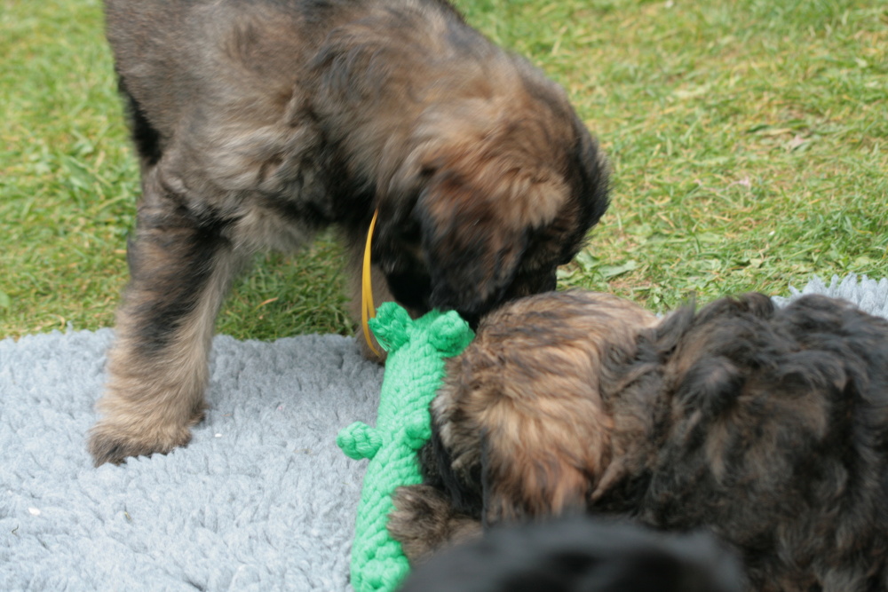
[[[444,0],[108,0],[107,36],[142,196],[97,464],[186,444],[254,254],[333,225],[357,269],[377,210],[377,303],[477,318],[553,288],[607,207],[566,93]]]

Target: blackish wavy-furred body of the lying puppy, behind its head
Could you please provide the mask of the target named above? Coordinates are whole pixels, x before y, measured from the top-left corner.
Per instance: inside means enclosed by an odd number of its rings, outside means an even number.
[[[711,525],[764,590],[888,589],[888,321],[747,295],[658,334],[670,419],[644,519]]]

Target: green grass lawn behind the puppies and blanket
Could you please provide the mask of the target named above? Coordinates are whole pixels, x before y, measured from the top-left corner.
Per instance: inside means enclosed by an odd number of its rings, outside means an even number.
[[[460,0],[562,83],[614,166],[564,287],[662,311],[888,276],[882,0]],[[138,171],[98,0],[0,0],[0,337],[113,323]],[[348,333],[341,251],[260,260],[218,329]]]

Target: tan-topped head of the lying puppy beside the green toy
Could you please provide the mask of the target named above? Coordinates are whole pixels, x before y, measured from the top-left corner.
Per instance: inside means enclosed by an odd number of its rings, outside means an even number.
[[[466,513],[477,515],[472,500],[483,497],[488,524],[584,508],[613,450],[603,358],[656,322],[637,304],[585,291],[488,315],[432,402],[429,482]]]

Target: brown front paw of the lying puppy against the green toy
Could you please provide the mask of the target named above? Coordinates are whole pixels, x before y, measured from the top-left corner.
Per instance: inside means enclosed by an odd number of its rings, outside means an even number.
[[[388,531],[400,542],[410,564],[481,535],[480,521],[456,514],[444,493],[430,485],[399,487],[394,507]]]

